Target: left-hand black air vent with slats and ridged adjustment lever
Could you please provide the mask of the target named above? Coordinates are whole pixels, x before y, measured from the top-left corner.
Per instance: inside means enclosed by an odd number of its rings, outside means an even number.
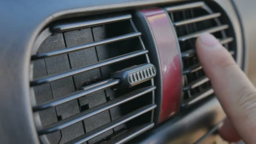
[[[154,126],[156,71],[131,18],[66,19],[38,36],[30,86],[42,143],[123,143]]]

